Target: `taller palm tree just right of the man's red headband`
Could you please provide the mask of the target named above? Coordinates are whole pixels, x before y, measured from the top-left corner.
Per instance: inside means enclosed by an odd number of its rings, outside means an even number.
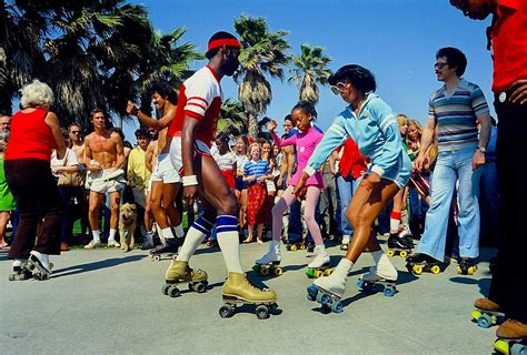
[[[262,18],[241,16],[235,20],[240,37],[240,69],[235,80],[240,84],[238,99],[249,119],[249,135],[258,134],[258,116],[266,112],[272,100],[272,91],[266,74],[284,79],[284,67],[288,64],[286,51],[290,48],[286,31],[270,32]]]

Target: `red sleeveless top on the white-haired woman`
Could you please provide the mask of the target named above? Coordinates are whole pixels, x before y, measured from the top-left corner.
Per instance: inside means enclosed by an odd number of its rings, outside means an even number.
[[[44,118],[47,110],[17,112],[11,120],[11,133],[6,148],[6,160],[41,159],[49,161],[56,148],[50,126]]]

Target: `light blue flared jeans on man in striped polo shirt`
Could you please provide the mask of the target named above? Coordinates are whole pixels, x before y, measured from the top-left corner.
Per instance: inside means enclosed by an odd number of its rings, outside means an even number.
[[[477,185],[473,183],[479,172],[473,173],[474,152],[474,148],[439,152],[431,183],[432,202],[426,215],[425,233],[417,247],[418,253],[445,260],[448,214],[456,182],[459,182],[459,255],[479,255],[479,205],[475,189]]]

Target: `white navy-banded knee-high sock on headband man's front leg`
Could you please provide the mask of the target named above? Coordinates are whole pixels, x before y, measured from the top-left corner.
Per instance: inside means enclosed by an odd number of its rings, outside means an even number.
[[[228,214],[218,215],[216,219],[216,231],[218,235],[218,245],[223,254],[227,271],[229,273],[243,273],[240,263],[238,219]]]

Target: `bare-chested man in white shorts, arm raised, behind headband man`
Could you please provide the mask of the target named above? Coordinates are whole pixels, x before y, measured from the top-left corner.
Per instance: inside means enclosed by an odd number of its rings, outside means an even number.
[[[162,231],[165,243],[155,250],[151,254],[160,253],[176,253],[178,247],[182,244],[185,235],[181,224],[181,216],[176,210],[173,202],[178,195],[180,183],[179,171],[177,171],[170,162],[168,152],[170,151],[170,140],[167,136],[168,125],[176,116],[177,92],[169,84],[155,83],[150,88],[150,93],[156,108],[162,111],[162,116],[155,120],[136,108],[133,102],[129,101],[127,112],[136,115],[139,121],[159,131],[158,139],[158,162],[152,173],[151,187],[151,209],[157,224]],[[175,227],[176,237],[172,233],[171,226]],[[151,235],[147,235],[147,239]],[[150,241],[147,244],[150,244]]]

